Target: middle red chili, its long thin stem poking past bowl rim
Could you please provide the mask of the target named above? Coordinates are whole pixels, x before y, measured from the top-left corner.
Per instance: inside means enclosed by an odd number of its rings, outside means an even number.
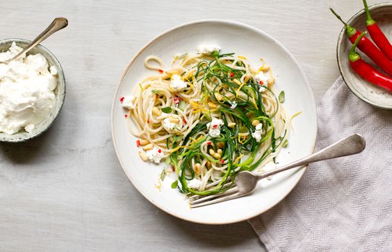
[[[332,13],[345,25],[345,33],[354,44],[355,40],[361,35],[360,31],[357,31],[354,27],[349,26],[343,19],[332,9],[329,8]],[[383,69],[387,74],[392,75],[392,62],[389,60],[382,51],[380,51],[373,42],[371,42],[367,37],[362,37],[359,41],[358,48],[363,51],[369,58],[373,60],[381,69]]]

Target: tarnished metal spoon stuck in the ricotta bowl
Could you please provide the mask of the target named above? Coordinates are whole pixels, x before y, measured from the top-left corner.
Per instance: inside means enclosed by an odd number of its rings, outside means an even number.
[[[9,62],[16,60],[24,53],[28,53],[28,51],[33,49],[37,44],[40,44],[40,42],[46,40],[47,37],[49,37],[53,33],[56,33],[56,31],[60,31],[62,28],[67,27],[67,25],[68,25],[68,20],[65,17],[56,17],[53,20],[53,22],[51,22],[51,24],[49,24],[49,26],[44,31],[42,31],[40,35],[38,35],[38,37],[35,37],[35,40],[33,40],[30,44],[28,44],[28,46],[25,49],[23,49],[23,51],[18,53],[17,56],[10,58],[9,60],[6,61],[0,61],[0,63],[8,64]]]

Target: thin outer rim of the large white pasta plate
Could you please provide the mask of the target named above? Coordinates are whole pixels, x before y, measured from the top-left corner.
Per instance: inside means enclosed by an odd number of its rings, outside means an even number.
[[[304,172],[307,170],[308,166],[304,166],[302,168],[297,168],[297,171],[295,172],[300,172],[300,176],[297,178],[297,180],[295,180],[295,183],[293,183],[293,186],[290,188],[290,190],[287,190],[286,194],[284,194],[283,196],[281,196],[281,198],[277,201],[277,203],[270,205],[269,208],[267,208],[266,210],[261,210],[258,213],[256,213],[255,215],[247,215],[246,217],[240,217],[238,219],[234,219],[231,221],[220,221],[220,222],[211,222],[211,221],[197,221],[195,219],[190,219],[187,217],[182,217],[177,215],[175,212],[172,212],[171,210],[168,210],[167,208],[164,208],[161,205],[158,205],[154,200],[149,199],[149,197],[147,197],[147,195],[142,192],[142,190],[140,190],[134,183],[133,183],[133,179],[131,178],[131,176],[128,174],[128,172],[126,171],[126,169],[124,169],[124,165],[122,164],[122,160],[119,156],[119,151],[117,150],[117,143],[115,141],[115,131],[114,131],[114,110],[115,110],[115,104],[116,104],[116,97],[117,94],[120,90],[120,85],[122,83],[122,80],[124,78],[124,76],[126,75],[126,72],[129,70],[129,68],[131,67],[131,65],[133,65],[133,62],[136,60],[136,58],[138,58],[140,56],[140,54],[145,51],[145,49],[147,49],[147,47],[149,47],[152,43],[154,43],[156,40],[160,39],[161,37],[163,37],[164,35],[167,35],[168,33],[171,33],[172,31],[176,31],[180,28],[186,27],[186,26],[192,26],[195,24],[203,24],[203,23],[222,23],[222,24],[229,24],[229,25],[235,25],[235,26],[242,26],[243,28],[248,28],[252,31],[255,31],[256,33],[261,33],[262,35],[268,37],[269,40],[271,40],[272,42],[274,42],[275,44],[277,44],[277,46],[279,46],[288,57],[291,58],[291,60],[293,60],[293,62],[295,63],[295,65],[298,67],[298,69],[300,70],[300,74],[302,76],[302,78],[304,79],[305,85],[307,90],[309,91],[310,94],[310,99],[311,99],[311,103],[313,105],[313,108],[315,110],[315,116],[316,116],[316,128],[315,128],[315,134],[314,137],[312,139],[312,153],[314,152],[315,146],[316,146],[316,139],[317,139],[317,135],[318,135],[318,113],[317,113],[317,106],[316,106],[316,100],[314,98],[314,94],[313,94],[313,90],[311,88],[309,79],[307,78],[306,73],[304,72],[304,69],[302,69],[301,65],[299,64],[299,62],[294,58],[293,54],[288,51],[288,49],[286,47],[284,47],[283,44],[281,44],[279,41],[275,40],[275,38],[273,38],[272,36],[268,35],[268,33],[261,31],[259,28],[256,28],[254,26],[251,26],[250,24],[245,24],[243,22],[237,22],[237,21],[233,21],[233,20],[229,20],[229,19],[198,19],[192,22],[186,22],[183,24],[179,24],[178,26],[174,26],[172,28],[169,28],[166,31],[163,31],[162,33],[156,35],[152,40],[149,40],[149,42],[147,42],[141,49],[139,49],[136,54],[131,58],[131,60],[129,61],[128,65],[126,65],[126,67],[124,68],[124,70],[122,71],[122,74],[120,76],[119,81],[117,82],[117,85],[115,87],[115,92],[113,94],[113,103],[112,103],[112,108],[111,108],[111,136],[112,136],[112,142],[113,142],[113,146],[115,149],[115,154],[117,156],[117,160],[118,162],[120,162],[120,166],[122,167],[122,170],[124,171],[124,174],[126,175],[126,177],[129,179],[129,181],[131,182],[131,184],[133,185],[133,187],[136,188],[136,190],[138,190],[138,192],[140,194],[142,194],[142,196],[147,199],[147,201],[149,201],[150,203],[152,203],[153,205],[155,205],[157,208],[163,210],[163,212],[168,213],[169,215],[172,215],[174,217],[177,217],[179,219],[183,219],[186,221],[190,221],[193,223],[197,223],[197,224],[206,224],[206,225],[223,225],[223,224],[234,224],[234,223],[238,223],[240,221],[247,221],[248,219],[252,219],[256,216],[259,216],[261,214],[263,214],[264,212],[267,212],[268,210],[270,210],[271,208],[275,207],[275,205],[277,205],[278,203],[280,203],[284,198],[286,198],[286,196],[293,191],[294,187],[297,185],[297,183],[300,181],[300,179],[302,178],[302,176],[304,175]]]

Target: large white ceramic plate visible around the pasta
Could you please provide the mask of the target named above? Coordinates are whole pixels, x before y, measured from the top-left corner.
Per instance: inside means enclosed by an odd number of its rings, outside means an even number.
[[[291,133],[288,138],[288,148],[281,151],[278,162],[286,164],[313,152],[317,133],[316,106],[307,77],[297,61],[287,49],[266,33],[245,24],[224,20],[205,20],[172,28],[147,43],[133,57],[115,92],[112,137],[126,176],[136,189],[158,208],[188,221],[229,224],[250,219],[272,208],[293,189],[304,169],[285,171],[273,176],[272,180],[263,180],[250,196],[190,209],[183,194],[170,187],[175,179],[174,174],[165,178],[161,192],[154,186],[162,168],[168,165],[153,165],[140,159],[136,137],[127,130],[124,110],[118,102],[120,97],[129,94],[143,77],[156,74],[145,69],[143,60],[147,56],[154,54],[165,62],[170,62],[175,54],[195,52],[197,46],[204,43],[219,44],[223,52],[247,56],[254,65],[261,65],[261,56],[265,58],[268,65],[272,66],[278,92],[286,92],[284,105],[288,114],[302,111],[293,121],[295,133]]]

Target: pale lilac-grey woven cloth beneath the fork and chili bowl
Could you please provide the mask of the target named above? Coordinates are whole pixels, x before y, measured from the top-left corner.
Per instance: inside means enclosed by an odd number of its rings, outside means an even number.
[[[339,78],[318,105],[316,150],[352,133],[364,152],[309,165],[295,189],[249,222],[268,251],[392,251],[392,111]]]

